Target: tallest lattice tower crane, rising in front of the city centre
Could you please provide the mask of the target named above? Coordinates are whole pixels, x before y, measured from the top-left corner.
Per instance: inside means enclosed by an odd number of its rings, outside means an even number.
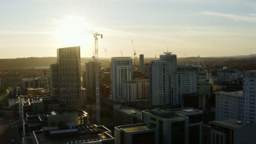
[[[103,38],[102,34],[97,32],[90,32],[94,35],[94,62],[95,62],[95,84],[96,84],[96,121],[101,124],[101,111],[100,111],[100,74],[98,71],[98,37]]]

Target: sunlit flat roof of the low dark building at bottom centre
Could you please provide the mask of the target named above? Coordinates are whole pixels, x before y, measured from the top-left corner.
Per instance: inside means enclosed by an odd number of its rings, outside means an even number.
[[[148,127],[146,124],[123,125],[116,128],[125,130],[127,133],[154,129],[153,127]]]

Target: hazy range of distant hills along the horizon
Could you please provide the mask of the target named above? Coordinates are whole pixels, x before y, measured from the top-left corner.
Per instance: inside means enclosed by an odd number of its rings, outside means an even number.
[[[144,63],[150,63],[155,58],[144,58]],[[159,60],[158,58],[156,60]],[[188,57],[191,64],[197,65],[197,57]],[[177,58],[179,64],[188,64],[188,60],[185,57]],[[251,65],[256,64],[256,55],[248,56],[232,56],[232,57],[202,57],[201,60],[205,65],[229,65],[235,67],[238,65]],[[27,67],[49,67],[50,64],[56,63],[56,57],[28,57],[28,58],[9,58],[0,59],[0,69],[4,68],[27,68]],[[81,58],[81,64],[93,61],[92,58]],[[110,59],[99,58],[102,67],[109,67]],[[137,58],[137,64],[139,64],[139,58]]]

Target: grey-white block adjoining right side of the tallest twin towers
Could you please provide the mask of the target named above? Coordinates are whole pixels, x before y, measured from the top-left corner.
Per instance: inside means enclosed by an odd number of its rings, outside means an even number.
[[[196,71],[176,71],[173,74],[172,104],[181,104],[182,94],[197,93]]]

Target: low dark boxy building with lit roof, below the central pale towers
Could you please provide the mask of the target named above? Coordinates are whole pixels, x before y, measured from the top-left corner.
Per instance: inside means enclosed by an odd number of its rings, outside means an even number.
[[[142,112],[132,107],[113,106],[114,125],[142,123]]]

